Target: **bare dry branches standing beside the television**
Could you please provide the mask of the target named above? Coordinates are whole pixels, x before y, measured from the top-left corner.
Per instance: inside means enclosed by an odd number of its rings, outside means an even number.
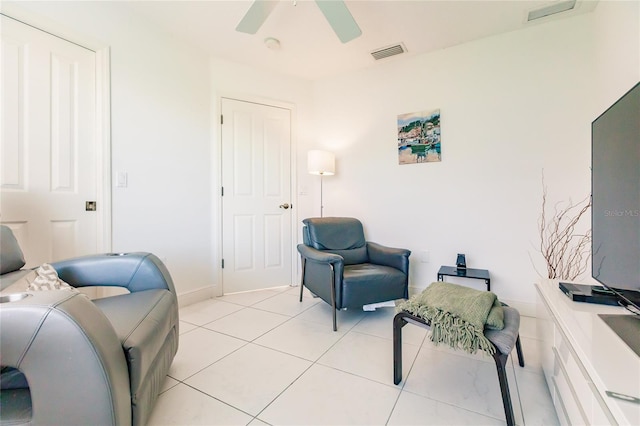
[[[580,220],[591,209],[591,196],[573,203],[556,203],[547,215],[547,187],[542,176],[542,212],[538,219],[540,253],[547,264],[550,279],[574,281],[582,275],[591,256],[591,229],[576,230]]]

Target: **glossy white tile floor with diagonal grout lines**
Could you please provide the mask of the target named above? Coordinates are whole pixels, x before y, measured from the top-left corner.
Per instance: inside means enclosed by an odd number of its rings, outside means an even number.
[[[180,346],[150,425],[500,425],[493,359],[435,347],[403,329],[404,380],[393,384],[394,308],[340,311],[299,287],[232,294],[180,310]],[[509,357],[517,423],[557,425],[522,317],[526,366]]]

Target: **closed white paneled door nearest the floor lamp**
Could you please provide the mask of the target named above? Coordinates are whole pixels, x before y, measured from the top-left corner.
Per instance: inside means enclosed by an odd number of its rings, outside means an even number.
[[[225,294],[292,284],[291,111],[222,99]]]

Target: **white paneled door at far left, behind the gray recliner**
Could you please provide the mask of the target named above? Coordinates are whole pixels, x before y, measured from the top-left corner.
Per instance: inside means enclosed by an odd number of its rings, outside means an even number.
[[[96,54],[1,19],[0,221],[27,267],[95,253]]]

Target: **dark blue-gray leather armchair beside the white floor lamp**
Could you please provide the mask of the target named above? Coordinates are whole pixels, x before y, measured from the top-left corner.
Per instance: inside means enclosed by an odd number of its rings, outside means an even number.
[[[329,303],[334,331],[338,309],[408,297],[411,251],[366,241],[358,219],[324,217],[302,222],[300,301],[307,287]]]

